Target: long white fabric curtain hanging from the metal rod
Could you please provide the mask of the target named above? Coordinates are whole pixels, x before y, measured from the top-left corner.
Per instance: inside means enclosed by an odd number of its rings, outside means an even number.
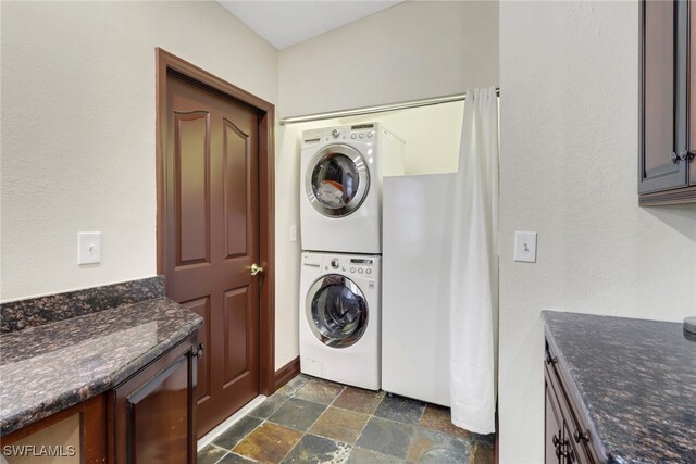
[[[498,318],[498,102],[467,92],[453,224],[450,308],[452,423],[495,431]]]

